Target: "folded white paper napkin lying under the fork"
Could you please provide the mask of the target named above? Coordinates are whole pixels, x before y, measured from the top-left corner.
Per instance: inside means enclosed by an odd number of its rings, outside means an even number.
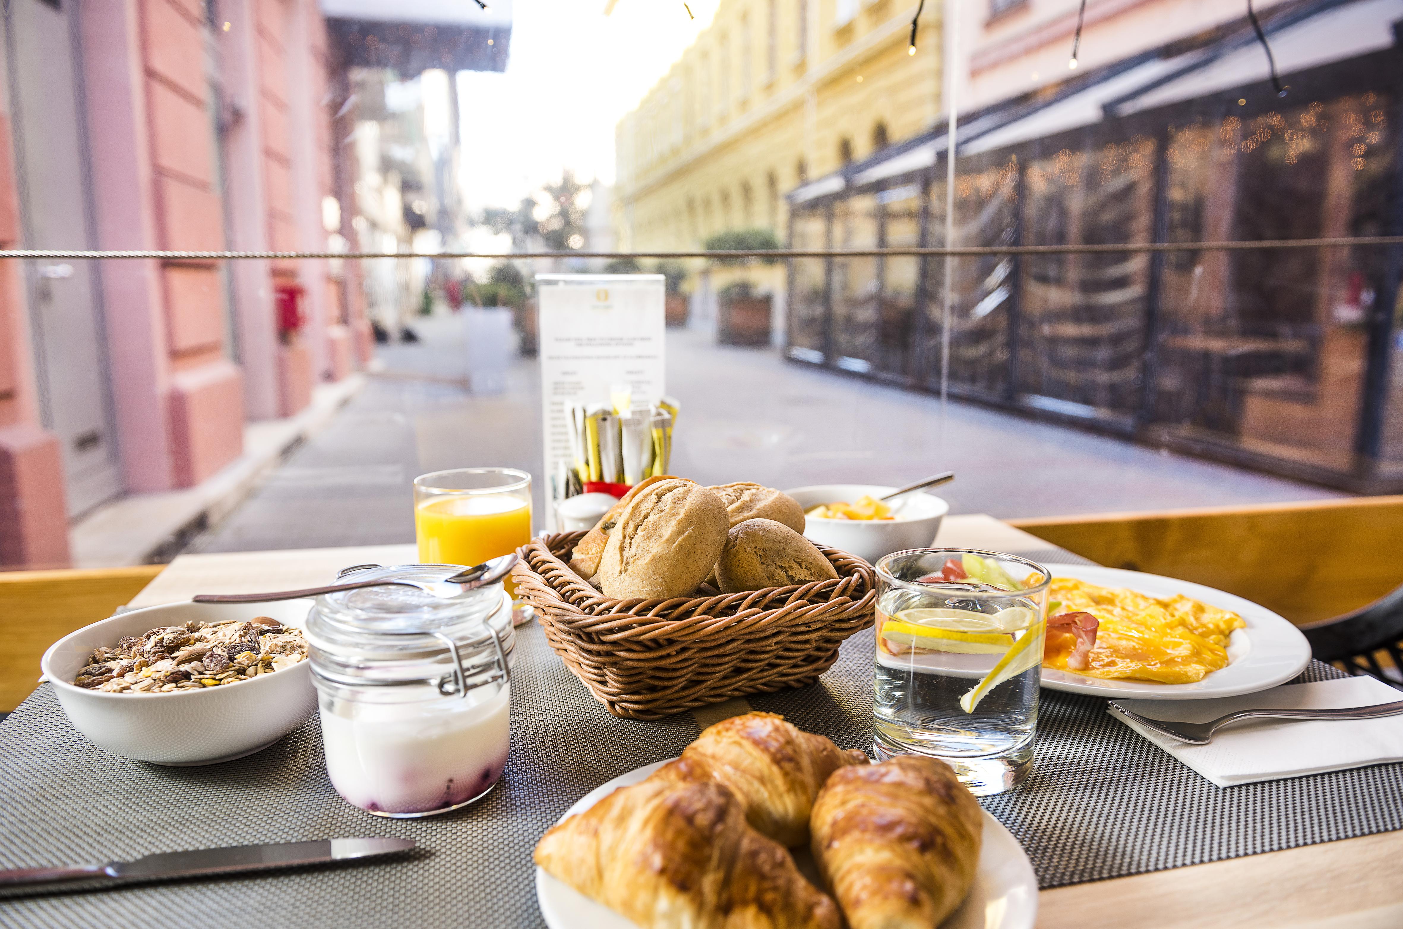
[[[1211,701],[1115,701],[1125,709],[1180,723],[1207,723],[1240,709],[1344,709],[1403,699],[1403,692],[1372,677],[1291,684],[1257,694]],[[1219,787],[1281,780],[1403,761],[1403,716],[1382,719],[1258,719],[1219,729],[1207,745],[1152,733],[1107,706],[1108,713]]]

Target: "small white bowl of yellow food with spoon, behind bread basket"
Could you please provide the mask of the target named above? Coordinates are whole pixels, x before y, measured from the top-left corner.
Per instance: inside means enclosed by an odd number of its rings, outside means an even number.
[[[819,503],[853,503],[860,496],[880,499],[897,488],[874,483],[817,483],[810,488],[786,490],[805,510]],[[940,520],[950,504],[930,493],[911,493],[902,497],[895,520],[825,520],[812,516],[804,520],[804,535],[819,545],[840,548],[874,562],[882,555],[908,548],[929,548],[940,531]]]

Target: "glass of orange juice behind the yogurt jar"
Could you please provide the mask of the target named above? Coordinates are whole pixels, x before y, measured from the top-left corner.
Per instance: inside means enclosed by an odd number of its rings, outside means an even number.
[[[424,563],[480,565],[530,541],[530,503],[506,495],[429,497],[414,507],[414,534]]]

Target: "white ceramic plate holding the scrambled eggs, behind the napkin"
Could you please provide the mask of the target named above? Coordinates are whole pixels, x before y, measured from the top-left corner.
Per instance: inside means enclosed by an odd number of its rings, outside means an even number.
[[[1044,565],[1054,577],[1075,577],[1101,587],[1128,587],[1152,597],[1184,594],[1214,607],[1232,610],[1246,622],[1228,640],[1228,667],[1197,684],[1153,681],[1106,681],[1069,671],[1042,668],[1042,687],[1068,694],[1087,694],[1145,701],[1198,701],[1215,696],[1254,694],[1285,684],[1310,663],[1310,643],[1301,631],[1266,607],[1214,587],[1188,580],[1143,574],[1138,570],[1093,565]]]

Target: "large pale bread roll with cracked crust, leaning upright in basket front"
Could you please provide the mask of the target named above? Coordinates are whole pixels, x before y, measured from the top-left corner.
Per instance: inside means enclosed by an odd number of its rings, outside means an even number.
[[[690,594],[720,558],[725,528],[725,504],[706,488],[678,478],[651,483],[609,531],[599,589],[619,598]]]

